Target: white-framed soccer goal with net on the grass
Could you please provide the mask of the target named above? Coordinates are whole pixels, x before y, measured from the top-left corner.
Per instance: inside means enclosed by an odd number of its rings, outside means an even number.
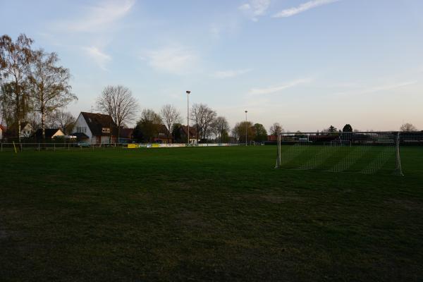
[[[400,133],[281,133],[276,168],[402,176]]]

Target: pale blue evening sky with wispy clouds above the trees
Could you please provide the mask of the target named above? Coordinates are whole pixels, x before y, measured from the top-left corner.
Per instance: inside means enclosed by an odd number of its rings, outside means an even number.
[[[0,34],[25,33],[95,109],[125,85],[142,109],[203,103],[233,126],[423,130],[421,0],[0,0]]]

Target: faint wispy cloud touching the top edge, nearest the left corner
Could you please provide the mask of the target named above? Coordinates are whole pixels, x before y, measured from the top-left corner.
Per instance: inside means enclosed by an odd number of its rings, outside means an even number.
[[[80,18],[61,23],[59,27],[73,32],[96,32],[123,18],[134,4],[135,0],[99,1],[96,6],[87,7]]]

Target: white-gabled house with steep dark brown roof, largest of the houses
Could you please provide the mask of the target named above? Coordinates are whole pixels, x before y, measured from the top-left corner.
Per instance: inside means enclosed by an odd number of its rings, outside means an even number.
[[[72,132],[72,135],[85,142],[109,144],[117,141],[118,126],[110,115],[81,111]]]

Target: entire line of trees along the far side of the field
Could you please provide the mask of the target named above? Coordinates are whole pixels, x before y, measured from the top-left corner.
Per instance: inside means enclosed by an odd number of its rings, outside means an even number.
[[[59,56],[55,52],[34,49],[33,42],[24,34],[19,35],[15,41],[8,35],[0,37],[1,121],[6,123],[9,130],[20,133],[21,123],[30,120],[32,128],[42,128],[43,139],[46,128],[61,128],[70,134],[75,117],[65,109],[68,104],[78,100],[69,82],[71,73],[68,68],[60,66]],[[144,109],[137,118],[139,104],[128,87],[123,85],[104,87],[97,97],[96,106],[97,110],[113,118],[119,136],[125,124],[136,121],[135,137],[147,142],[157,137],[161,125],[166,126],[168,138],[178,139],[176,131],[183,123],[180,111],[172,104],[162,106],[158,113],[153,109]],[[228,142],[230,137],[237,142],[267,140],[264,125],[242,121],[231,130],[226,117],[219,116],[207,104],[193,104],[189,118],[191,127],[195,128],[195,136],[192,137],[197,142]],[[412,132],[417,131],[417,128],[411,123],[405,123],[400,130]],[[279,123],[271,125],[271,135],[283,131]],[[331,125],[322,131],[333,133],[338,130]],[[353,128],[347,124],[342,131],[353,132]],[[20,141],[20,134],[17,136]]]

